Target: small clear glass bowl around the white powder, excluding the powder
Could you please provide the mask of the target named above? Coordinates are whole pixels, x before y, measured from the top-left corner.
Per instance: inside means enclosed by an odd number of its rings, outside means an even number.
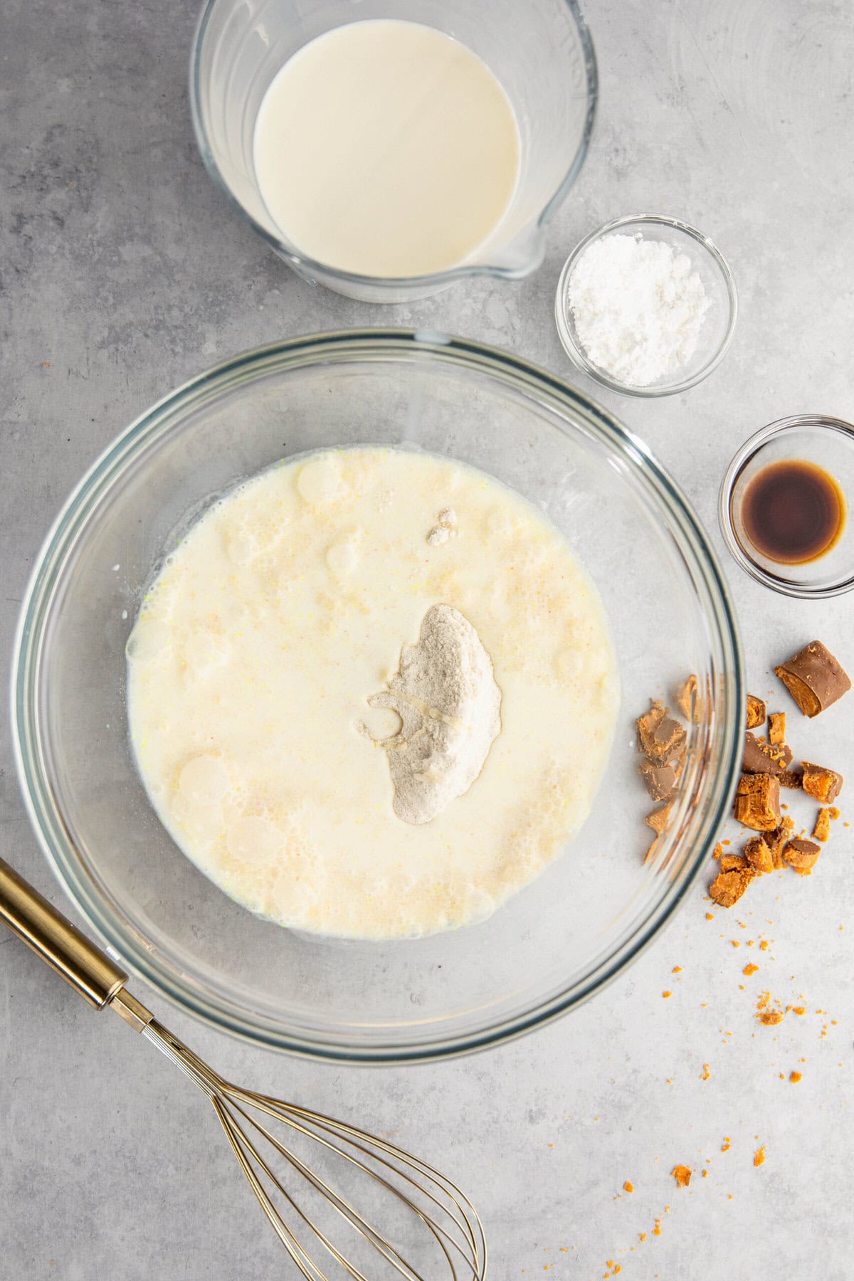
[[[631,383],[618,382],[593,364],[579,341],[575,319],[567,300],[567,287],[575,264],[594,241],[603,240],[615,232],[629,236],[640,232],[644,240],[665,241],[672,249],[688,254],[691,268],[699,272],[705,296],[712,302],[699,332],[697,351],[689,363],[682,365],[672,378],[661,378],[648,387],[635,387]],[[675,392],[695,387],[723,360],[732,341],[737,314],[739,298],[732,272],[717,245],[712,243],[708,236],[698,232],[695,227],[689,227],[688,223],[681,223],[677,218],[663,218],[658,214],[629,214],[625,218],[615,218],[613,222],[606,223],[604,227],[585,236],[563,264],[554,296],[557,332],[572,364],[589,374],[590,378],[595,378],[603,387],[609,387],[613,392],[624,392],[627,396],[672,396]]]

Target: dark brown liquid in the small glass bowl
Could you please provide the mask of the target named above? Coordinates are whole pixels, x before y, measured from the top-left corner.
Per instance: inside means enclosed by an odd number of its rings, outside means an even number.
[[[786,459],[757,471],[739,515],[758,552],[784,565],[803,565],[823,556],[841,534],[845,500],[822,468]]]

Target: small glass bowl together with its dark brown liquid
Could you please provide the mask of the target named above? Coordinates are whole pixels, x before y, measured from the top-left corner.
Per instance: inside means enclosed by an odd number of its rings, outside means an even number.
[[[802,414],[771,423],[735,455],[721,485],[721,530],[745,573],[786,596],[854,587],[854,425]]]

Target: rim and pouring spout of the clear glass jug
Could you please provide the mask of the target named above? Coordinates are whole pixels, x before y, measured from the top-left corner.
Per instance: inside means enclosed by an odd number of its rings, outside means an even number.
[[[283,243],[277,236],[270,234],[270,232],[262,227],[257,219],[243,208],[241,201],[237,199],[228,182],[223,177],[214,154],[207,142],[207,132],[204,124],[204,115],[201,109],[201,50],[205,41],[205,35],[207,31],[207,24],[210,22],[210,15],[214,10],[218,0],[206,0],[204,9],[198,15],[198,22],[196,23],[196,31],[193,35],[193,42],[189,51],[189,113],[192,118],[193,133],[196,135],[196,145],[202,158],[205,169],[209,177],[214,181],[216,187],[223,192],[228,202],[232,205],[237,213],[246,219],[246,222],[261,236],[266,243],[275,250],[275,252],[284,259],[291,266],[301,273],[319,273],[321,277],[334,277],[337,281],[343,281],[353,286],[362,287],[375,287],[389,290],[420,290],[429,287],[442,287],[444,284],[452,284],[455,281],[462,281],[466,277],[476,275],[489,275],[495,279],[503,281],[521,281],[531,272],[535,272],[540,265],[544,254],[544,232],[552,218],[554,216],[557,209],[563,201],[570,187],[581,172],[581,165],[588,154],[588,147],[590,146],[590,137],[593,136],[593,123],[595,120],[597,102],[599,99],[599,73],[597,68],[595,51],[593,47],[593,40],[590,37],[590,31],[584,19],[584,14],[579,8],[577,0],[563,0],[570,18],[575,23],[575,28],[581,42],[581,50],[584,55],[584,73],[586,78],[586,111],[584,117],[584,128],[581,131],[581,138],[576,147],[575,155],[572,156],[570,165],[556,187],[554,192],[547,201],[540,215],[534,223],[534,252],[530,259],[522,266],[501,266],[498,264],[489,263],[469,263],[460,266],[449,268],[447,272],[435,272],[430,275],[402,275],[402,277],[373,277],[373,275],[357,275],[352,272],[342,272],[338,268],[329,266],[325,263],[318,261],[318,259],[310,257],[307,254],[300,254],[296,249],[289,245]]]

